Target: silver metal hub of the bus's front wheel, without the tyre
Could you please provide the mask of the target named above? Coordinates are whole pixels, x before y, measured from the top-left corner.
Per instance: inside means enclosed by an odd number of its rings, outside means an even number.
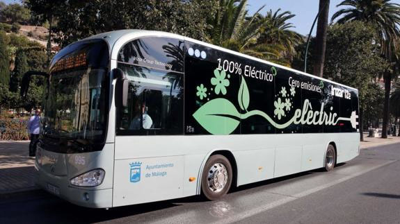
[[[223,164],[212,165],[207,176],[209,189],[215,193],[222,191],[227,184],[227,178],[227,171]]]

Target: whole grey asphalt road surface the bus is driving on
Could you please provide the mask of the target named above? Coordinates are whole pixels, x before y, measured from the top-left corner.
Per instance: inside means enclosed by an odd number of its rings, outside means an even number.
[[[400,144],[369,148],[329,173],[249,184],[214,202],[86,209],[34,191],[0,198],[0,223],[400,223],[399,160]]]

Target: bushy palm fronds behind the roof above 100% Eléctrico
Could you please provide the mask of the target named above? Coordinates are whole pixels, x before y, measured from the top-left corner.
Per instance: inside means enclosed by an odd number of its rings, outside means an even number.
[[[258,41],[268,22],[267,17],[259,14],[264,6],[252,17],[247,16],[246,6],[247,0],[220,0],[219,10],[214,21],[211,21],[213,28],[209,31],[207,41],[233,51],[289,65],[281,56],[282,51],[285,51],[283,44]]]

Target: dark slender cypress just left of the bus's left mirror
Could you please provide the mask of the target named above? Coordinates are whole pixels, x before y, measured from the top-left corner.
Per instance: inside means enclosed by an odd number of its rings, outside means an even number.
[[[13,75],[10,78],[10,91],[17,92],[19,89],[19,83],[21,83],[22,76],[28,71],[28,62],[26,61],[26,55],[24,51],[17,51],[15,56],[15,67]]]

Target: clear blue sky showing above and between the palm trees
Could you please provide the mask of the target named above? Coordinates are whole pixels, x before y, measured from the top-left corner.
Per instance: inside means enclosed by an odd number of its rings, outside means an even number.
[[[0,1],[6,3],[19,2],[19,0]],[[330,17],[339,10],[336,6],[342,1],[343,0],[330,0],[329,21]],[[392,0],[391,2],[400,4],[400,0]],[[319,0],[248,0],[249,14],[253,15],[254,12],[257,12],[257,10],[264,5],[265,7],[261,11],[262,15],[265,15],[266,11],[269,11],[270,9],[275,12],[278,8],[281,8],[281,11],[290,11],[296,15],[289,20],[289,22],[296,26],[295,28],[292,28],[292,30],[302,35],[308,35],[308,33],[310,33],[312,22],[318,13]],[[312,35],[315,35],[316,30],[317,24],[314,26]]]

